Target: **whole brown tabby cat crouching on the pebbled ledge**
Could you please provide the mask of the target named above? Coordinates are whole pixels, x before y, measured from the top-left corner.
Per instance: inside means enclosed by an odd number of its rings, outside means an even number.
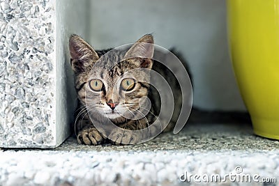
[[[140,45],[146,43],[149,45]],[[175,108],[167,129],[173,127],[181,107],[181,88],[172,72],[153,61],[153,36],[147,34],[137,40],[127,50],[107,49],[96,51],[77,35],[69,40],[71,65],[75,72],[75,88],[79,105],[75,122],[75,132],[79,144],[98,145],[110,141],[112,144],[135,144],[141,137],[122,130],[110,132],[97,130],[95,123],[106,126],[106,121],[126,130],[141,130],[152,126],[160,113],[160,96],[148,82],[151,80],[149,70],[153,69],[163,75],[175,94]],[[135,56],[144,57],[129,57]],[[124,59],[124,60],[121,60]],[[126,74],[129,70],[146,69]],[[141,80],[139,80],[141,79]],[[150,110],[144,117],[140,102],[145,98],[151,101]],[[90,102],[91,109],[86,107]],[[154,127],[153,130],[159,130]],[[150,131],[152,132],[152,131]],[[114,141],[109,140],[114,139]]]

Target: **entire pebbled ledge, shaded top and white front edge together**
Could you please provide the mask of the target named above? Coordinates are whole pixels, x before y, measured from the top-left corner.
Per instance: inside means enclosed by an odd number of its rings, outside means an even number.
[[[241,170],[241,173],[236,171]],[[194,180],[220,175],[222,180]],[[226,174],[259,176],[234,180]],[[181,177],[182,176],[182,177]],[[206,177],[207,178],[207,177]],[[211,178],[211,177],[208,177]],[[226,179],[225,179],[226,178]],[[262,180],[269,178],[273,180]],[[70,137],[52,150],[0,150],[0,185],[278,185],[279,141],[247,123],[190,123],[133,146],[82,146]]]

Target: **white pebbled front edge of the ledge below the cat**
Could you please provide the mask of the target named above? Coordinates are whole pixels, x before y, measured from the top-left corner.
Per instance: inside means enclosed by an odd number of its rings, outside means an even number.
[[[225,175],[241,167],[243,174],[279,180],[276,151],[179,151],[105,152],[27,151],[0,152],[1,185],[197,185],[181,181],[188,176],[218,174],[226,185],[263,185],[234,182]],[[224,182],[223,182],[224,180]],[[216,182],[204,185],[216,185]]]

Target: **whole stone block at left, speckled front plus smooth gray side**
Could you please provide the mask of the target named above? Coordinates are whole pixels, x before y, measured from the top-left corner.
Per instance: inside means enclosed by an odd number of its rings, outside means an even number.
[[[52,148],[68,137],[74,91],[66,84],[73,80],[66,8],[76,6],[75,0],[0,0],[0,147]]]

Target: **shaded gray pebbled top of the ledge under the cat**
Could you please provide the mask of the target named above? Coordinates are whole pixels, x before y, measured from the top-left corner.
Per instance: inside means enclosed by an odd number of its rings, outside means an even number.
[[[55,150],[85,151],[158,151],[158,150],[279,150],[279,141],[264,139],[253,134],[250,124],[190,123],[179,134],[167,132],[144,144],[133,146],[82,146],[70,137]]]

